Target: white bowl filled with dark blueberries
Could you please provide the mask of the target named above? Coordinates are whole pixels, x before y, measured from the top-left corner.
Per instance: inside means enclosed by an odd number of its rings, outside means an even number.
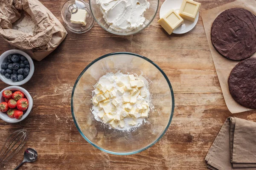
[[[31,57],[20,50],[9,50],[0,56],[0,79],[8,85],[23,85],[34,74]]]

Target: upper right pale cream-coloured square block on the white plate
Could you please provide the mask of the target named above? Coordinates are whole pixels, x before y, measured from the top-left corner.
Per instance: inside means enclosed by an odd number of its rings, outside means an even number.
[[[189,20],[191,22],[195,21],[195,16],[199,11],[201,3],[197,3],[193,0],[183,0],[179,15],[183,17],[185,20]]]

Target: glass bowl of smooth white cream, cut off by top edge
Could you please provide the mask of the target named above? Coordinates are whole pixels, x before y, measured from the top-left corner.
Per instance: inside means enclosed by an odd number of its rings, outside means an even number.
[[[89,0],[96,22],[106,31],[131,35],[154,20],[159,0]]]

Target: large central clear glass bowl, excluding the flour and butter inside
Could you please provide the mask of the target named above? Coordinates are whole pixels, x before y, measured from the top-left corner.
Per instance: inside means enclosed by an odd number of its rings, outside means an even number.
[[[108,72],[143,74],[148,79],[154,109],[147,123],[130,131],[109,129],[94,119],[93,85]],[[84,139],[107,153],[129,155],[155,144],[168,129],[174,111],[174,94],[166,74],[154,62],[138,54],[111,53],[91,62],[76,80],[71,96],[71,111],[75,125]]]

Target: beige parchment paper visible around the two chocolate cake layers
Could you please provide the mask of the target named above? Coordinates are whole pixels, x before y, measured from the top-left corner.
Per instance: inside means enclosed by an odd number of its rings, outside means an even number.
[[[213,21],[215,20],[216,17],[218,17],[219,14],[221,14],[221,12],[230,8],[244,8],[252,12],[254,15],[256,15],[256,0],[236,0],[232,3],[227,3],[223,6],[203,11],[202,18],[207,41],[209,43],[210,51],[212,54],[212,59],[215,65],[215,69],[218,75],[218,79],[221,85],[221,90],[227,108],[231,113],[239,113],[252,110],[250,108],[245,108],[244,106],[238,104],[230,95],[230,91],[228,88],[228,78],[230,72],[235,67],[235,65],[239,63],[239,61],[234,61],[223,57],[221,54],[218,53],[218,51],[216,51],[211,41],[211,28]],[[256,57],[256,54],[253,54],[252,57]]]

